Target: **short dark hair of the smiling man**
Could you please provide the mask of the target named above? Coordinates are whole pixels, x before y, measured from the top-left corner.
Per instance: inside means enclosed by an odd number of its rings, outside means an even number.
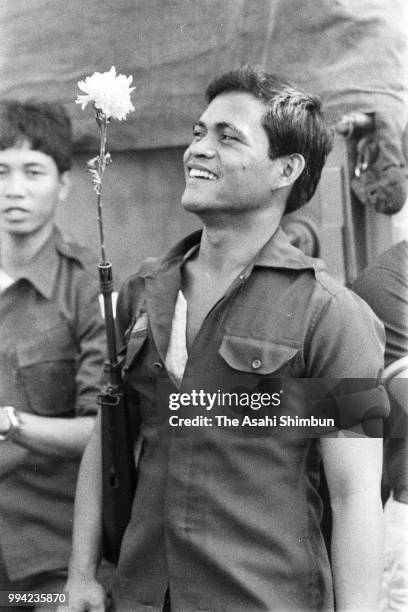
[[[216,96],[233,91],[249,93],[265,104],[262,125],[272,159],[292,153],[303,155],[305,168],[292,187],[285,214],[300,208],[316,191],[332,147],[332,133],[320,99],[261,68],[244,66],[213,79],[206,91],[207,100],[210,103]]]

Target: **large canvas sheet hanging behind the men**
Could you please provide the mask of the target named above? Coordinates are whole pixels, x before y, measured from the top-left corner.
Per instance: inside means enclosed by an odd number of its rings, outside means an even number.
[[[111,65],[132,74],[136,111],[110,128],[106,181],[114,262],[124,273],[196,227],[179,207],[181,153],[212,76],[256,63],[319,93],[334,120],[375,111],[390,163],[404,165],[405,0],[3,0],[0,96],[67,105],[77,143],[75,187],[62,224],[95,240],[84,163],[97,146],[77,82]],[[116,153],[115,153],[116,152]],[[78,222],[80,220],[80,222]]]

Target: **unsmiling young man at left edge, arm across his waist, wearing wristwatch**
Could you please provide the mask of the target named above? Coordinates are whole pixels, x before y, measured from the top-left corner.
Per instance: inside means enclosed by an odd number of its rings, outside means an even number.
[[[54,225],[71,149],[59,105],[0,105],[2,592],[62,590],[96,412],[104,355],[96,268]]]

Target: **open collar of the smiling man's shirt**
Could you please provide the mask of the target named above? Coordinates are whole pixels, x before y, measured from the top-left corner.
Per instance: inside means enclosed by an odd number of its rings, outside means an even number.
[[[197,249],[201,234],[202,231],[199,230],[178,242],[166,255],[158,260],[157,268],[150,272],[154,273],[163,266],[182,265]],[[288,270],[312,270],[314,272],[325,269],[325,264],[320,259],[308,257],[300,249],[293,246],[281,227],[278,227],[276,232],[260,249],[254,260],[246,266],[244,273],[249,275],[255,266]]]

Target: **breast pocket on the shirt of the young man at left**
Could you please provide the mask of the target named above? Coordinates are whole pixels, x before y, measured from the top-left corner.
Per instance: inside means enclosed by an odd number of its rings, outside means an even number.
[[[76,353],[69,330],[63,325],[18,344],[19,375],[32,412],[74,416]]]

